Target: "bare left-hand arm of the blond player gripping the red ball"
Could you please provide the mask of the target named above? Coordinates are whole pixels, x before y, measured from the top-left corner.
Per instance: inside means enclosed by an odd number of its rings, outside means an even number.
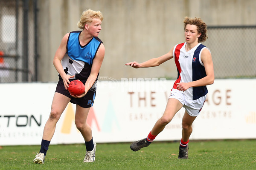
[[[53,65],[56,68],[56,70],[58,71],[58,73],[60,74],[61,78],[63,79],[64,86],[65,86],[66,90],[68,88],[68,84],[70,84],[69,79],[75,76],[75,75],[73,75],[73,76],[67,75],[65,73],[65,71],[63,70],[63,67],[61,65],[61,59],[63,59],[64,55],[67,52],[66,45],[67,45],[68,36],[69,36],[69,33],[64,35],[64,37],[61,40],[61,44],[58,47],[58,49],[57,49],[57,51],[55,53],[55,56],[53,58]]]

